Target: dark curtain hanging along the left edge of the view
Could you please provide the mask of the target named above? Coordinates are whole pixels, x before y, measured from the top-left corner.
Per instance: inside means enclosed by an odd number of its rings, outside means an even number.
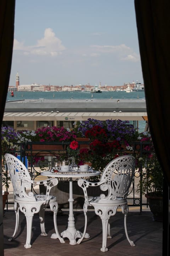
[[[14,36],[15,0],[0,1],[0,127],[4,115],[5,101],[11,72],[12,48]],[[1,129],[0,129],[1,130]],[[0,134],[0,157],[1,157],[1,134]],[[2,166],[0,161],[0,191],[2,191]],[[3,245],[3,209],[2,193],[0,193],[0,255],[4,255]]]

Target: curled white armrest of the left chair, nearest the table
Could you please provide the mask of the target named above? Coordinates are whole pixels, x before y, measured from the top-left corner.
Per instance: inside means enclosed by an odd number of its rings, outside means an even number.
[[[52,187],[54,187],[58,184],[58,179],[57,178],[50,178],[48,180],[42,180],[42,181],[25,180],[25,187],[27,187],[26,183],[31,183],[33,185],[44,185],[46,187],[45,201],[46,201],[46,204],[47,204],[48,201],[49,201],[50,190],[51,190]]]

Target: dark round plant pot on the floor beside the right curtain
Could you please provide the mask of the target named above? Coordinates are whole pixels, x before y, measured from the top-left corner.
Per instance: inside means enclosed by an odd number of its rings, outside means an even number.
[[[147,202],[149,204],[149,208],[153,213],[153,219],[157,222],[163,221],[163,197],[151,196],[149,194],[145,194],[147,198]]]

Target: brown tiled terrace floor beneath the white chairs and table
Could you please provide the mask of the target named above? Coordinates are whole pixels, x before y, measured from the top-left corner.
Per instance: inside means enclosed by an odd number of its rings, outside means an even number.
[[[83,231],[84,214],[74,212],[75,225]],[[131,240],[136,244],[131,247],[124,232],[124,218],[121,212],[117,212],[111,217],[112,239],[107,239],[107,252],[101,252],[102,247],[102,224],[100,217],[93,211],[88,212],[87,232],[89,239],[84,239],[81,244],[70,245],[69,240],[61,244],[58,239],[51,239],[53,228],[53,217],[51,212],[45,213],[45,227],[48,236],[40,235],[39,216],[34,215],[32,230],[32,247],[25,249],[26,242],[26,219],[20,213],[19,228],[17,236],[11,242],[7,239],[13,234],[15,226],[15,213],[5,212],[4,222],[4,255],[5,256],[91,256],[91,255],[114,255],[114,256],[161,256],[162,255],[162,223],[154,222],[151,212],[130,212],[128,214],[127,226]],[[58,230],[61,233],[66,229],[68,222],[68,212],[63,212],[57,216]]]

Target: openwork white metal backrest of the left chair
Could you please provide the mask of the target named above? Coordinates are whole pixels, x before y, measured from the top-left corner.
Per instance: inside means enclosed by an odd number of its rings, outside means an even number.
[[[31,177],[26,166],[18,158],[8,153],[5,154],[5,160],[15,196],[21,200],[36,201],[32,192],[26,192],[31,188],[31,183],[28,182]]]

